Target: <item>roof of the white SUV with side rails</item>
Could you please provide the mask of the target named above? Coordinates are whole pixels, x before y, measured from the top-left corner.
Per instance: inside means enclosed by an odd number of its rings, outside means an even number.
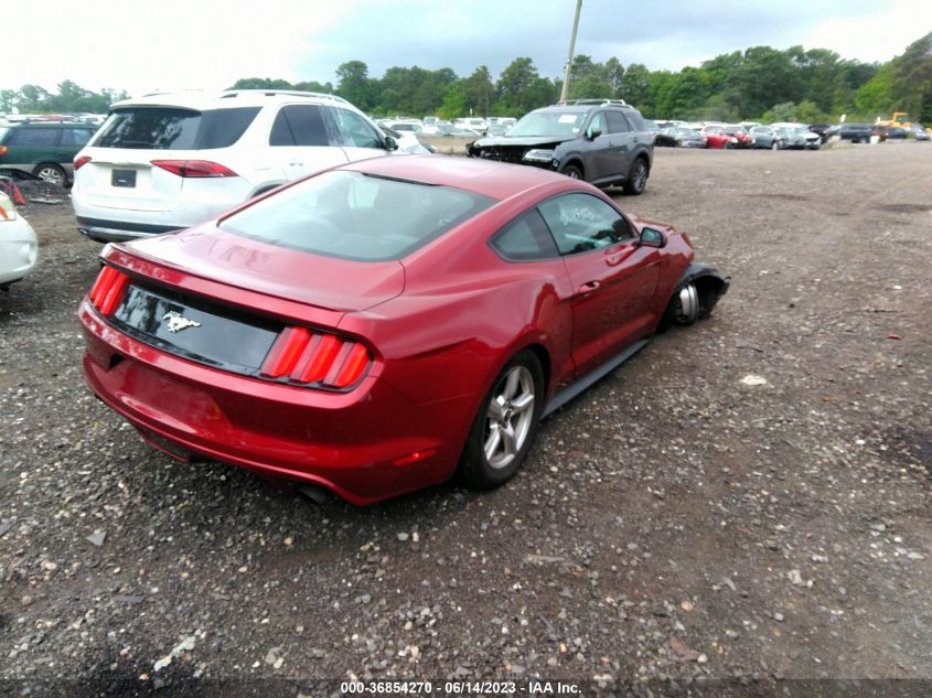
[[[342,97],[323,93],[308,93],[294,89],[225,89],[222,92],[189,90],[150,93],[141,97],[118,101],[110,107],[110,110],[126,107],[181,107],[183,109],[203,111],[204,109],[263,107],[274,104],[293,104],[296,101],[351,106]]]

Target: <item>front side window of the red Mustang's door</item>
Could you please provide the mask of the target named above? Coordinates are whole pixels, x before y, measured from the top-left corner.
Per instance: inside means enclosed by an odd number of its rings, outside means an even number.
[[[634,237],[628,219],[591,194],[557,196],[539,208],[561,255],[587,253]]]

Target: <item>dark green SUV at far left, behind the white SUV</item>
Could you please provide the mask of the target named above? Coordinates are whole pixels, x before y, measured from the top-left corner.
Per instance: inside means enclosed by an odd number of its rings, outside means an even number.
[[[74,174],[74,157],[96,130],[67,121],[0,126],[0,170],[22,170],[64,186]]]

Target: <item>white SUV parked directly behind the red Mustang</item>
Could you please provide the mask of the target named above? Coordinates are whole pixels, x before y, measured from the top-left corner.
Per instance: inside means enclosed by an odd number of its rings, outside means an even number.
[[[74,159],[78,229],[100,241],[188,228],[280,184],[397,151],[333,95],[237,89],[113,106]]]

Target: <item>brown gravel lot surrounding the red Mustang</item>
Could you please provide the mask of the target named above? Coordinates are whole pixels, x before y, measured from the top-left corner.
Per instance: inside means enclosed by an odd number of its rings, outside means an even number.
[[[932,679],[930,172],[912,141],[658,149],[619,201],[731,275],[714,318],[546,420],[505,487],[368,508],[144,445],[81,375],[100,246],[31,204],[41,262],[0,294],[0,694]]]

